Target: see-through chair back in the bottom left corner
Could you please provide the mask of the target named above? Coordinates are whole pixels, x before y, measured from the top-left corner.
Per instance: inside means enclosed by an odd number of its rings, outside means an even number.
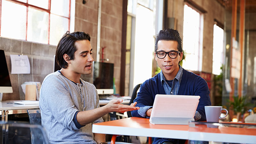
[[[0,134],[2,144],[50,144],[42,126],[23,121],[0,121]]]

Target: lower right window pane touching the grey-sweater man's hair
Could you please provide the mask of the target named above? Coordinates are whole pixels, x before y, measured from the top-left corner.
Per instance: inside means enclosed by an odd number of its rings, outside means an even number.
[[[59,39],[68,31],[68,18],[50,16],[50,45],[57,45]]]

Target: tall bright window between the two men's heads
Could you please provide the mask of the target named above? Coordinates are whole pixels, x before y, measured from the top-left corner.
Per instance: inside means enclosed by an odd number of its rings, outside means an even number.
[[[125,95],[131,94],[138,83],[152,77],[156,2],[156,0],[128,0],[126,61],[122,63],[125,65]],[[144,73],[141,74],[140,71]]]

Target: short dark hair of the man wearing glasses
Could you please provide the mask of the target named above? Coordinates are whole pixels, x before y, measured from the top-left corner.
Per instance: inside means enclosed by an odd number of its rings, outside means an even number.
[[[155,42],[155,51],[157,50],[157,43],[160,40],[164,41],[177,41],[178,42],[178,51],[183,52],[182,50],[182,44],[181,44],[181,37],[179,36],[179,32],[174,29],[164,29],[161,30],[156,35],[156,42]]]

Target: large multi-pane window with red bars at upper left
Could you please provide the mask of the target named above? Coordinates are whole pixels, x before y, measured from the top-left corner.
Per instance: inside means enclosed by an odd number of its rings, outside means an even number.
[[[57,45],[70,30],[71,0],[0,0],[0,36]]]

